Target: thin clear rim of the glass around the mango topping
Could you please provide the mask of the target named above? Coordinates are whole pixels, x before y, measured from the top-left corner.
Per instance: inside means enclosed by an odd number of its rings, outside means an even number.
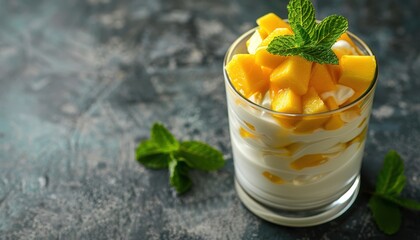
[[[369,46],[363,41],[361,40],[359,37],[357,37],[355,34],[353,34],[350,31],[347,31],[346,33],[352,38],[352,40],[355,40],[358,44],[361,45],[361,47],[363,49],[363,51],[366,51],[368,53],[368,56],[373,56],[375,57],[375,62],[376,62],[376,68],[375,68],[375,74],[373,76],[373,80],[371,82],[371,84],[369,85],[369,87],[355,100],[353,100],[353,102],[339,107],[337,109],[334,110],[328,110],[326,112],[321,112],[321,113],[311,113],[311,114],[305,114],[305,113],[287,113],[287,112],[278,112],[275,110],[272,110],[270,108],[266,108],[263,107],[253,101],[251,101],[250,99],[248,99],[247,97],[245,97],[242,93],[240,93],[239,91],[237,91],[235,89],[235,87],[232,84],[232,81],[230,80],[227,72],[226,72],[226,65],[228,63],[228,59],[232,58],[232,53],[233,51],[236,49],[236,47],[245,39],[249,38],[256,30],[258,29],[258,27],[254,27],[250,30],[248,30],[247,32],[243,33],[241,36],[239,36],[228,48],[224,60],[223,60],[223,75],[224,75],[224,80],[227,81],[229,84],[230,89],[238,96],[240,97],[242,100],[245,100],[248,104],[250,104],[251,106],[257,108],[258,110],[261,111],[265,111],[267,113],[271,113],[271,114],[275,114],[275,115],[283,115],[283,116],[289,116],[289,117],[305,117],[305,116],[324,116],[324,115],[331,115],[334,113],[339,113],[342,111],[345,111],[347,109],[350,109],[352,107],[354,107],[355,105],[357,105],[358,103],[360,103],[367,95],[369,95],[371,92],[374,91],[376,83],[377,83],[377,79],[378,79],[378,61],[376,59],[376,56],[373,54],[372,50],[369,48]],[[356,44],[357,45],[357,44]]]

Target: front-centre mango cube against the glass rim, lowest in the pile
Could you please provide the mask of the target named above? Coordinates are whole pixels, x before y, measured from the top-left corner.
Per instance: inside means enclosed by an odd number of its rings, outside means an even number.
[[[274,94],[271,109],[283,113],[302,113],[301,97],[291,89],[281,89]],[[286,128],[292,128],[300,119],[297,117],[274,115],[275,119]]]

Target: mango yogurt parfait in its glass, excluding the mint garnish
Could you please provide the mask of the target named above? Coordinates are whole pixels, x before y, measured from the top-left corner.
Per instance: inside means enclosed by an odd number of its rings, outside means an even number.
[[[233,43],[224,63],[238,195],[274,223],[329,221],[358,193],[375,57],[347,31],[327,49],[335,64],[276,54],[274,40],[298,39],[299,27],[273,13],[257,24]]]

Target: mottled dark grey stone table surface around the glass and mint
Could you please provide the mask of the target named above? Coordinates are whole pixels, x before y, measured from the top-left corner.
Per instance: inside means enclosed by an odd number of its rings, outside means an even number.
[[[287,1],[1,0],[0,239],[420,239],[420,215],[381,233],[367,207],[385,153],[404,159],[420,199],[420,2],[314,1],[371,46],[379,85],[362,191],[341,217],[290,228],[250,213],[234,190],[222,60]],[[135,161],[150,126],[220,149],[177,196],[167,171]]]

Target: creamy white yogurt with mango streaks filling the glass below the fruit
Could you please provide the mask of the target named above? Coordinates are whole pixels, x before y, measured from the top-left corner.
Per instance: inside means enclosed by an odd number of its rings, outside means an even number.
[[[340,91],[331,96],[340,99],[345,95]],[[283,127],[269,111],[252,106],[231,89],[227,100],[235,173],[241,186],[260,202],[288,209],[315,208],[338,198],[357,177],[372,99],[360,110],[336,113],[344,121],[342,127],[306,134]],[[269,94],[250,100],[266,108],[271,102]],[[322,163],[292,167],[308,155],[322,156]]]

